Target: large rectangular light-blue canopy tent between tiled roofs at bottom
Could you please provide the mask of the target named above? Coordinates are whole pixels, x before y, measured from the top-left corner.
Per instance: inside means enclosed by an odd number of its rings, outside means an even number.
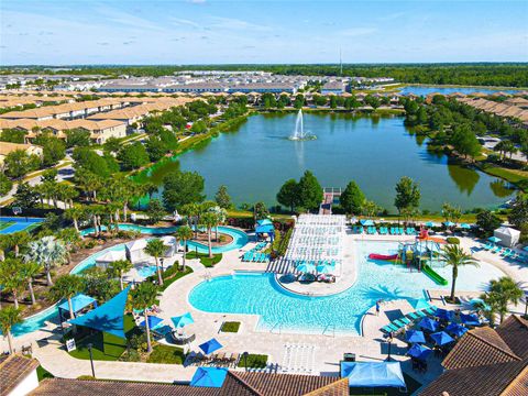
[[[399,362],[341,362],[341,377],[350,387],[406,387]]]

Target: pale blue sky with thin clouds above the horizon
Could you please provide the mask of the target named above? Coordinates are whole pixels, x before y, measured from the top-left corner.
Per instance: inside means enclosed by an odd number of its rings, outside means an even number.
[[[0,63],[528,61],[528,1],[0,2]]]

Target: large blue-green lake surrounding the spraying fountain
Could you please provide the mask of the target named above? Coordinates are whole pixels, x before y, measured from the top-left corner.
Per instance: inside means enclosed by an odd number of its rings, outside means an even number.
[[[439,210],[447,201],[462,209],[494,207],[513,193],[495,177],[429,153],[424,138],[410,135],[402,117],[306,113],[305,129],[317,140],[305,142],[287,139],[295,119],[295,113],[250,117],[238,131],[158,167],[152,178],[161,184],[172,169],[196,170],[206,179],[209,198],[224,184],[237,205],[275,205],[283,183],[310,169],[323,187],[355,180],[369,199],[391,211],[402,176],[419,183],[421,209]]]

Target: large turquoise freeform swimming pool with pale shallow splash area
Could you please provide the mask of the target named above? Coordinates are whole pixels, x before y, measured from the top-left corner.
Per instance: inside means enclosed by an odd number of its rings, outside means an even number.
[[[361,318],[377,299],[420,298],[426,288],[442,288],[422,273],[409,273],[405,266],[366,258],[370,253],[388,254],[396,249],[397,243],[362,242],[358,246],[356,283],[333,296],[289,293],[270,273],[235,273],[200,283],[188,299],[195,308],[207,312],[258,315],[261,331],[360,334]],[[450,268],[438,272],[451,279]],[[457,288],[481,290],[490,279],[501,276],[504,274],[491,264],[462,267]]]

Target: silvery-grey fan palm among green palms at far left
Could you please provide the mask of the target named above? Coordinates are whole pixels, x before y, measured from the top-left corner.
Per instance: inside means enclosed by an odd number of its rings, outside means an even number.
[[[28,244],[25,261],[34,261],[46,271],[47,286],[53,286],[52,268],[66,262],[67,251],[64,243],[55,237],[44,237]]]

